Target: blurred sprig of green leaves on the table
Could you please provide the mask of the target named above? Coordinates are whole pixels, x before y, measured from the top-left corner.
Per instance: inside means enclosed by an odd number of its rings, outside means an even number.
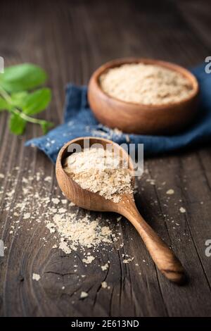
[[[0,112],[11,113],[9,127],[22,135],[27,122],[38,124],[46,133],[53,123],[32,117],[44,111],[51,101],[51,89],[43,87],[46,73],[30,63],[12,65],[0,74]]]

